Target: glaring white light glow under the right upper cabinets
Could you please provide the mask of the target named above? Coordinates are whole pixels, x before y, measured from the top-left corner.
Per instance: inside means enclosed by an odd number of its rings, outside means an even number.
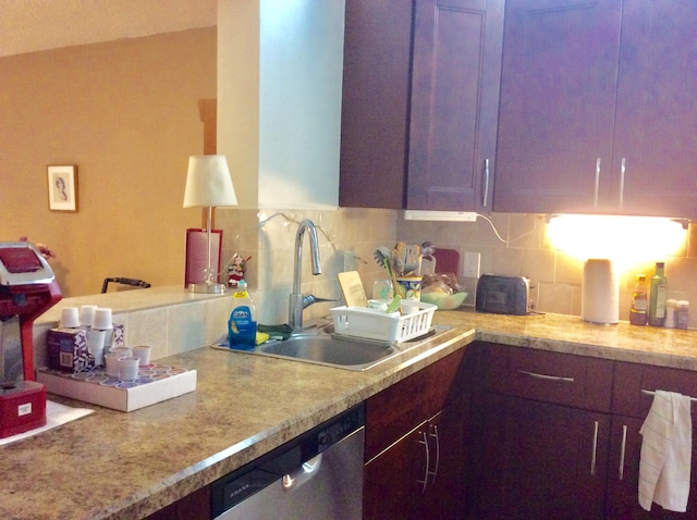
[[[550,216],[547,234],[574,258],[609,258],[622,268],[675,255],[687,236],[684,223],[671,219],[576,214]]]

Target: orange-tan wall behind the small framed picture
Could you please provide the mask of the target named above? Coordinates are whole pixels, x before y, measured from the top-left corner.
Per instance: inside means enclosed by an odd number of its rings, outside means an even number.
[[[0,240],[56,252],[64,296],[107,276],[183,284],[188,156],[216,98],[209,27],[0,59]],[[48,209],[46,166],[78,166],[77,213]]]

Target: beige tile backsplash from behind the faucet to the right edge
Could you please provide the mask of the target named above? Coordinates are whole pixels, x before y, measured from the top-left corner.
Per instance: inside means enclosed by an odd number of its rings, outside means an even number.
[[[492,213],[476,222],[405,221],[402,211],[378,209],[254,210],[228,212],[230,225],[223,224],[224,253],[240,250],[253,256],[249,281],[255,301],[265,323],[286,323],[288,298],[292,288],[294,242],[297,223],[310,219],[318,226],[322,274],[313,276],[309,269],[308,238],[303,244],[303,294],[341,298],[337,282],[340,271],[358,271],[366,293],[371,294],[375,280],[384,271],[372,258],[377,246],[392,246],[398,239],[415,244],[430,240],[442,248],[480,253],[480,273],[524,275],[531,281],[535,309],[540,312],[580,315],[584,263],[554,249],[547,235],[543,215]],[[262,225],[260,225],[262,223]],[[247,248],[246,248],[247,247]],[[252,249],[254,248],[254,249]],[[684,247],[667,262],[669,292],[692,300],[690,327],[697,327],[697,231],[689,224]],[[644,261],[620,273],[620,319],[628,320],[628,309],[636,275],[653,274],[653,262]],[[477,278],[458,275],[474,305]],[[315,305],[305,311],[307,319],[327,313],[330,305]]]

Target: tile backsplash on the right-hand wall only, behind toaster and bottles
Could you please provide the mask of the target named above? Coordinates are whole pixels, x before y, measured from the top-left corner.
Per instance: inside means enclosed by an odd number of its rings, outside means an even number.
[[[431,240],[437,246],[481,255],[480,272],[523,275],[530,278],[535,309],[541,312],[580,315],[584,262],[555,250],[547,236],[542,215],[493,213],[491,223],[478,218],[474,223],[413,222],[400,220],[398,236],[415,243]],[[496,227],[496,232],[494,232]],[[500,238],[497,236],[497,233]],[[697,327],[697,231],[689,224],[685,244],[674,256],[656,258],[665,261],[669,297],[693,302],[689,327]],[[653,261],[639,261],[620,272],[620,319],[628,320],[636,275],[653,275]],[[460,273],[461,274],[461,273]],[[476,278],[460,277],[474,293]],[[472,296],[468,304],[474,304]]]

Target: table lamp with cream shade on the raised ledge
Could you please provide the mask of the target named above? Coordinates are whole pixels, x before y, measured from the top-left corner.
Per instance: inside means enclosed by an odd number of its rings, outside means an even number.
[[[225,286],[218,283],[218,273],[212,268],[210,234],[213,207],[237,206],[235,188],[232,186],[225,156],[192,156],[188,158],[184,208],[206,208],[206,232],[208,239],[208,261],[204,269],[204,282],[188,285],[192,293],[219,294]]]

